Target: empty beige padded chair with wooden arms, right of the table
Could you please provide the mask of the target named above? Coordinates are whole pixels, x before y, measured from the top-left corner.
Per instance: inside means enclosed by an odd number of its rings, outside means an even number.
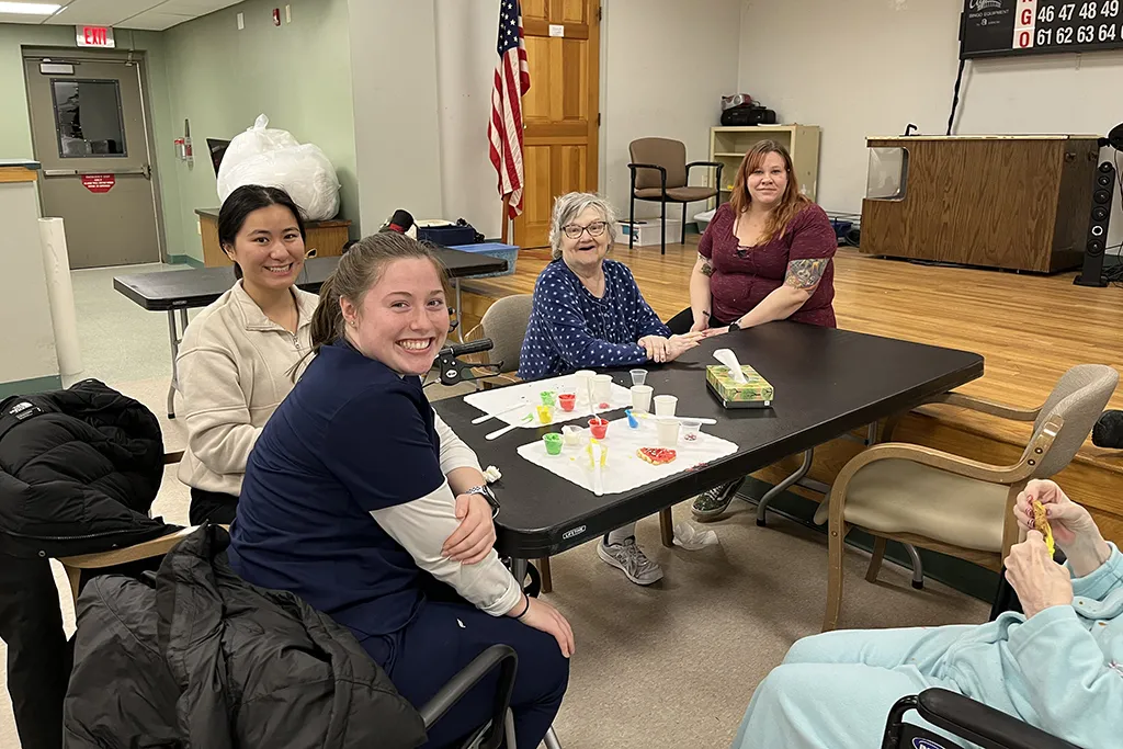
[[[994,466],[903,442],[884,442],[852,458],[815,512],[828,523],[829,578],[823,630],[838,625],[842,606],[842,554],[847,533],[861,528],[876,544],[866,579],[874,582],[886,539],[949,554],[1002,569],[1017,541],[1012,509],[1031,478],[1067,466],[1084,444],[1119,383],[1098,364],[1066,372],[1041,408],[1024,410],[959,393],[934,399],[984,413],[1033,421],[1033,435],[1017,463]]]

